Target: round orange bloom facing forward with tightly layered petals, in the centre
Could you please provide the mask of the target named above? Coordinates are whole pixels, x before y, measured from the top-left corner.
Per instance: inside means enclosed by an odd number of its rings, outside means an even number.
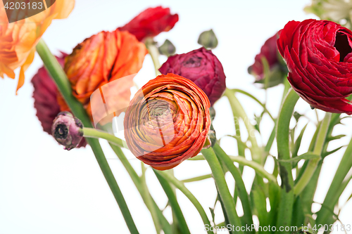
[[[189,79],[166,74],[140,89],[127,108],[125,138],[131,152],[154,169],[196,156],[210,129],[210,102]]]

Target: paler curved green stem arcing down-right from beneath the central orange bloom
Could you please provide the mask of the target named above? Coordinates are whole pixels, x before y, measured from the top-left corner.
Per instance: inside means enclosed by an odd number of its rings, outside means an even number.
[[[184,186],[182,182],[177,180],[175,176],[172,176],[171,174],[168,174],[166,171],[158,171],[154,169],[154,172],[158,174],[159,176],[163,176],[167,181],[172,183],[176,188],[178,188],[188,199],[189,201],[194,204],[194,207],[196,207],[197,211],[201,215],[201,219],[203,220],[204,225],[210,227],[210,221],[208,219],[208,216],[206,215],[206,212],[204,211],[203,207],[201,206],[201,203],[194,197],[194,195]],[[211,230],[208,230],[208,234],[213,234]]]

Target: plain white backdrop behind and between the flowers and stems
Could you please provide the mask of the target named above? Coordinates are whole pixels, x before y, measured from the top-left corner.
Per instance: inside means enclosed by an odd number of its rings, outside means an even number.
[[[174,29],[156,37],[160,44],[170,39],[177,48],[177,53],[187,53],[199,48],[196,43],[199,34],[212,28],[218,36],[218,48],[213,50],[222,62],[227,75],[227,86],[244,89],[264,100],[265,93],[253,86],[253,77],[247,74],[247,67],[253,63],[260,46],[277,30],[282,29],[289,20],[315,18],[307,15],[303,7],[308,0],[247,0],[247,1],[117,1],[117,0],[76,0],[73,13],[67,20],[56,20],[44,34],[46,43],[53,53],[58,51],[70,53],[76,44],[101,30],[115,30],[125,25],[135,15],[149,6],[167,6],[172,13],[178,13],[180,21]],[[161,58],[165,60],[165,58]],[[36,56],[34,63],[26,73],[25,85],[15,96],[17,81],[0,79],[0,234],[14,233],[128,233],[125,221],[101,174],[90,148],[76,149],[70,152],[54,141],[54,138],[42,131],[42,126],[35,116],[33,107],[31,77],[42,66]],[[154,76],[151,58],[146,56],[144,67],[139,73],[139,84],[142,85]],[[268,108],[275,117],[279,109],[282,86],[270,89]],[[244,96],[239,100],[253,119],[253,113],[260,114],[261,109]],[[234,124],[230,105],[222,98],[215,105],[218,116],[214,126],[218,138],[234,134]],[[296,108],[306,113],[313,121],[315,112],[302,100]],[[322,112],[319,112],[322,118]],[[272,122],[268,117],[263,119],[263,138],[268,139]],[[347,126],[340,126],[334,134],[348,134],[348,137],[336,145],[348,143],[351,137],[351,121]],[[303,126],[303,124],[301,124]],[[300,126],[301,127],[301,126]],[[315,127],[308,126],[308,134],[303,138],[302,152],[306,152],[310,137]],[[122,193],[125,195],[134,221],[140,233],[155,233],[148,210],[134,187],[122,164],[107,144],[101,141],[108,162],[113,169]],[[222,147],[235,155],[237,150],[234,141],[226,138]],[[332,146],[336,146],[332,145]],[[275,147],[273,147],[275,148]],[[337,169],[344,149],[327,157],[323,167],[323,177],[319,181],[315,202],[322,202],[327,193],[327,186]],[[275,150],[272,152],[275,154]],[[130,160],[140,172],[139,160]],[[272,167],[266,165],[268,170]],[[177,178],[209,174],[206,162],[183,162],[175,168]],[[234,182],[228,176],[230,190]],[[253,171],[246,169],[245,183],[250,185]],[[147,171],[147,183],[160,207],[166,204],[166,197],[151,170]],[[199,199],[206,212],[213,207],[215,186],[211,179],[187,185]],[[348,186],[341,204],[351,195],[352,186]],[[193,205],[182,193],[177,193],[181,208],[191,233],[204,233],[203,223]],[[316,207],[317,209],[319,208]],[[218,211],[215,221],[222,221]],[[239,213],[241,213],[239,211]],[[168,219],[170,210],[165,211]],[[340,215],[345,224],[352,224],[352,202],[346,204]],[[341,232],[342,233],[342,232]],[[352,232],[351,232],[352,233]]]

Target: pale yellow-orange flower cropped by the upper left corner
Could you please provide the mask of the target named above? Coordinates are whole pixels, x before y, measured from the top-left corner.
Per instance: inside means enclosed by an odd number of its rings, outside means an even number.
[[[31,3],[28,1],[28,3]],[[25,81],[25,70],[34,58],[35,46],[54,19],[67,18],[75,0],[56,0],[50,8],[30,18],[8,23],[8,18],[20,18],[19,11],[12,11],[7,17],[3,1],[0,1],[0,77],[14,79],[16,68],[20,67],[17,90]],[[16,15],[18,14],[18,15]]]

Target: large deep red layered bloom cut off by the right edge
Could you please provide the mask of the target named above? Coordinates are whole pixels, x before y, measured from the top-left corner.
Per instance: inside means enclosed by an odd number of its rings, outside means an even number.
[[[277,48],[292,88],[313,108],[352,114],[352,32],[327,20],[290,21]]]

